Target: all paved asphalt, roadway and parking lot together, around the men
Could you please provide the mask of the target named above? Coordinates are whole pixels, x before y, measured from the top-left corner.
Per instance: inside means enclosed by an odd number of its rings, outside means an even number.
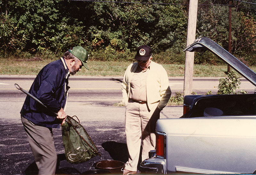
[[[20,121],[20,109],[26,95],[14,87],[19,84],[29,89],[34,76],[0,76],[0,174],[36,173],[34,158],[26,134]],[[91,160],[71,164],[65,160],[61,129],[53,129],[55,148],[58,154],[58,174],[80,174],[93,170],[94,162],[118,160],[126,162],[127,149],[124,133],[124,107],[113,107],[121,101],[122,77],[71,77],[67,114],[76,115],[82,126],[91,136],[101,153]],[[243,80],[241,87],[252,93],[254,87]],[[170,78],[172,92],[183,91],[182,78]],[[209,88],[215,91],[218,79],[196,79],[195,91],[206,93]],[[207,86],[206,88],[202,87]],[[194,87],[194,86],[193,86]],[[242,89],[242,88],[240,88]],[[182,115],[182,106],[165,107],[160,118],[178,118]]]

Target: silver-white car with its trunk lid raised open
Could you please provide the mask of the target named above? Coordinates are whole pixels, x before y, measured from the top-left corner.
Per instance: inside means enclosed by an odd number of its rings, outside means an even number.
[[[211,51],[256,86],[256,73],[209,38],[185,50]],[[256,94],[185,96],[183,116],[157,120],[149,154],[146,172],[256,173]]]

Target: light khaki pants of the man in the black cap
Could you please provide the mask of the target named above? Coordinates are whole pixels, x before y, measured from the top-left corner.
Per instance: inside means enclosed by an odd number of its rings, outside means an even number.
[[[148,152],[156,147],[156,120],[160,113],[155,112],[158,103],[148,110],[147,104],[128,101],[125,110],[125,135],[129,159],[125,169],[137,171],[142,139],[142,161],[148,158]]]

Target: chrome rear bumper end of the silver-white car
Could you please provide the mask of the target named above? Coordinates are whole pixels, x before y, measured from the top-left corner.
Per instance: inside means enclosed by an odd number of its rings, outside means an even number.
[[[149,158],[141,162],[141,171],[166,174],[166,163],[163,158]]]

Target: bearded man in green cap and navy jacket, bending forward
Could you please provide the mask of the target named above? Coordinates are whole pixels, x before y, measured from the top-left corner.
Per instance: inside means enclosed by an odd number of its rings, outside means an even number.
[[[81,46],[68,49],[64,55],[44,66],[36,76],[29,93],[39,99],[47,108],[29,96],[20,111],[21,121],[28,136],[38,174],[55,174],[57,153],[54,147],[52,128],[60,128],[67,114],[68,77],[88,68],[88,52]],[[57,113],[55,116],[50,111]]]

